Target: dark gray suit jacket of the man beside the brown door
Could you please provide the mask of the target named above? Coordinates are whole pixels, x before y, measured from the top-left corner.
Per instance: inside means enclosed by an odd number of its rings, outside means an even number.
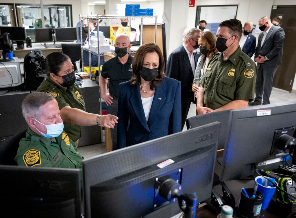
[[[266,38],[263,42],[261,47],[261,41],[263,38],[263,32],[260,33],[258,37],[258,44],[255,51],[255,58],[259,55],[263,57],[267,57],[268,60],[264,61],[262,64],[266,67],[271,66],[278,66],[281,64],[281,59],[283,57],[283,47],[284,47],[284,40],[285,40],[285,31],[281,27],[277,27],[275,25],[271,25],[269,27],[270,30],[268,31]],[[257,64],[257,69],[261,64]]]

